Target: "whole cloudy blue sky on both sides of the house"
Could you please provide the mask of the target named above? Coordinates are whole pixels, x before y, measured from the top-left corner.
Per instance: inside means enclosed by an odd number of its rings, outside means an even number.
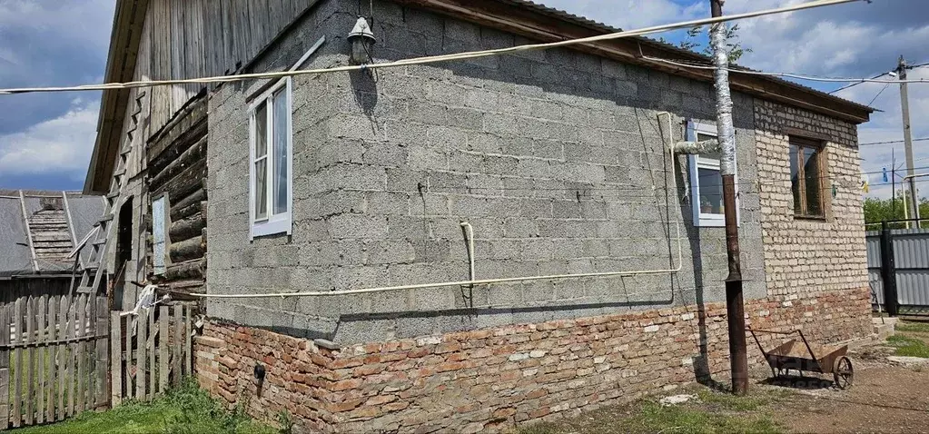
[[[0,0],[0,87],[79,85],[103,79],[114,0]],[[709,0],[541,0],[591,20],[630,30],[710,15]],[[724,13],[782,7],[801,0],[726,0]],[[872,0],[741,20],[739,63],[767,72],[870,77],[929,62],[929,1]],[[682,32],[664,33],[679,41]],[[891,78],[884,76],[884,78]],[[909,70],[929,78],[929,66]],[[830,91],[841,84],[801,82]],[[881,110],[858,130],[859,141],[899,140],[898,85],[863,84],[837,95]],[[96,138],[99,94],[0,96],[0,188],[79,190]],[[929,137],[929,84],[909,85],[914,138]],[[865,172],[904,168],[903,144],[862,146]],[[929,140],[914,142],[917,173],[929,172]],[[929,178],[924,195],[929,195]],[[870,195],[889,197],[881,173]]]

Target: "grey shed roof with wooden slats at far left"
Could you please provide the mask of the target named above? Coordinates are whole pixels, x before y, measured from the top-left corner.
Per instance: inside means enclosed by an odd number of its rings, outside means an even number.
[[[0,277],[70,273],[68,254],[103,209],[101,197],[75,191],[0,190]]]

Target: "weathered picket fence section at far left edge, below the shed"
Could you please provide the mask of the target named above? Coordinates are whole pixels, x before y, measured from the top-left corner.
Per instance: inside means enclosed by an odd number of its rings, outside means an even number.
[[[0,307],[0,428],[107,405],[107,299],[19,296]]]

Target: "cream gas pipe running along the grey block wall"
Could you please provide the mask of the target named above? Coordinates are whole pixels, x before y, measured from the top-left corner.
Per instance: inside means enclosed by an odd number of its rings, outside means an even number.
[[[671,169],[668,171],[668,174],[671,176],[673,191],[677,191],[677,178],[674,176],[674,138],[672,132],[672,114],[670,112],[659,112],[659,123],[661,123],[661,115],[667,116],[668,124],[668,139],[665,142],[664,148],[668,152],[669,164]],[[670,210],[669,210],[670,215]],[[425,288],[442,288],[442,287],[451,287],[451,286],[474,286],[478,284],[491,284],[491,283],[519,283],[519,282],[534,282],[534,281],[557,281],[565,279],[586,279],[586,278],[604,278],[604,277],[620,277],[620,276],[637,276],[637,275],[649,275],[649,274],[666,274],[666,273],[675,273],[680,271],[684,266],[684,247],[681,243],[681,218],[674,218],[674,229],[675,229],[675,238],[677,240],[677,266],[670,269],[661,269],[661,270],[632,270],[632,271],[604,271],[604,272],[590,272],[590,273],[576,273],[576,274],[549,274],[543,276],[526,276],[526,277],[507,277],[507,278],[498,278],[498,279],[475,279],[475,268],[474,268],[474,228],[467,222],[461,222],[461,227],[465,232],[465,236],[468,240],[468,251],[469,251],[469,271],[471,279],[467,281],[458,281],[458,282],[440,282],[440,283],[417,283],[417,284],[404,284],[397,286],[382,286],[376,288],[360,288],[360,289],[344,289],[337,291],[307,291],[307,292],[294,292],[294,293],[265,293],[265,294],[190,294],[190,296],[199,296],[203,298],[268,298],[268,297],[289,297],[289,296],[347,296],[352,294],[369,294],[369,293],[383,293],[387,291],[403,291],[407,289],[425,289]],[[674,262],[672,262],[674,264]]]

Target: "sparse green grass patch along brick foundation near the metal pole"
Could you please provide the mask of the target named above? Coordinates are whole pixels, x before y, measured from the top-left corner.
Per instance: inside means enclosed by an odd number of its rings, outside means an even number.
[[[608,407],[573,419],[520,427],[517,433],[778,433],[784,429],[765,413],[765,406],[779,399],[777,393],[735,397],[701,389],[697,396],[697,401],[668,407],[656,401]]]

